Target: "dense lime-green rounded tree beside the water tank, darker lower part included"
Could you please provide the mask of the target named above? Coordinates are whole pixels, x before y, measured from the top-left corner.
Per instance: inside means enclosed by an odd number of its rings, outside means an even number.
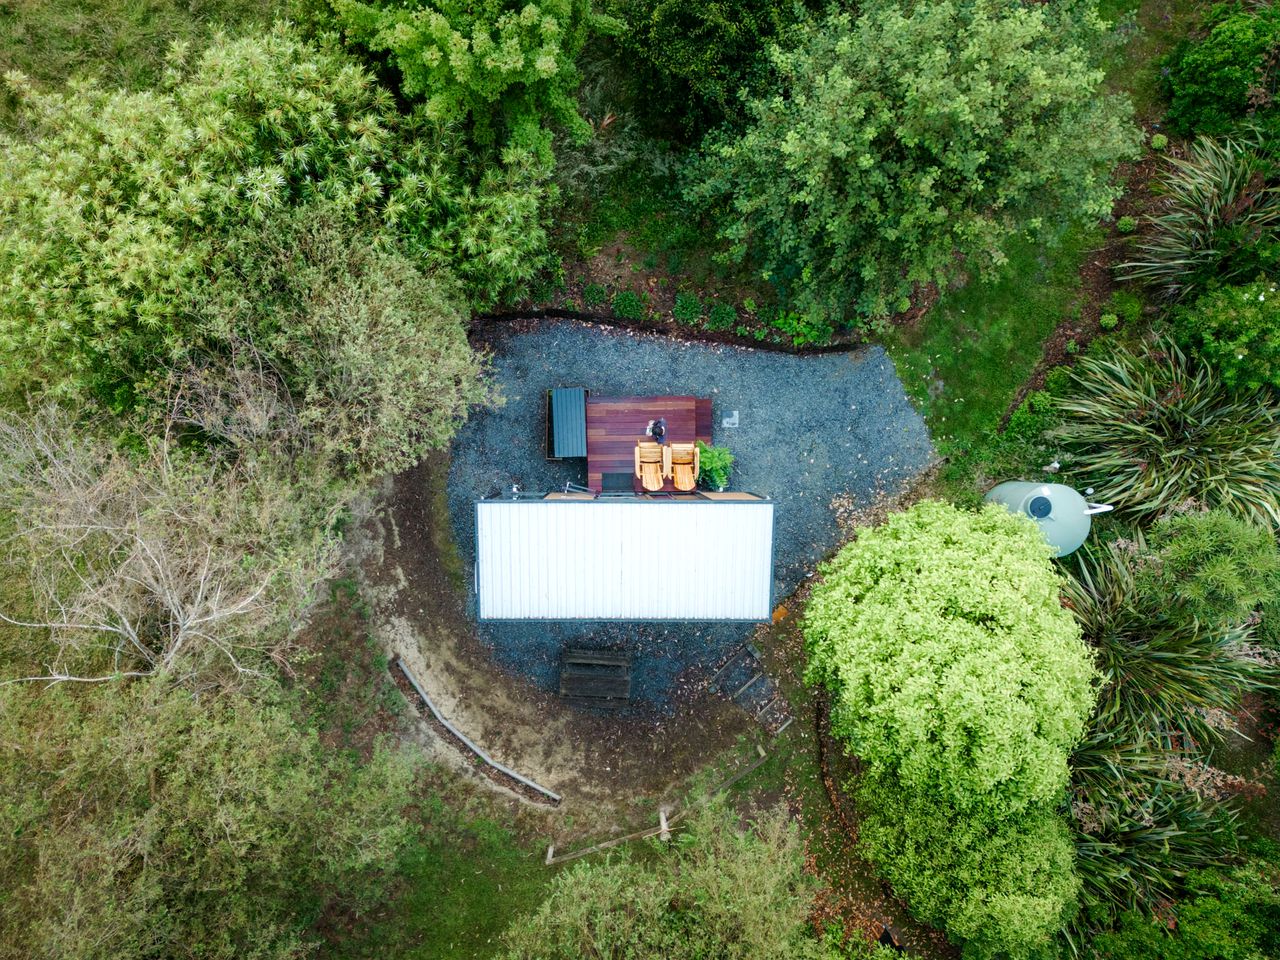
[[[1059,806],[1094,698],[1043,536],[924,500],[822,573],[808,678],[863,762],[864,852],[973,956],[1033,955],[1080,888]]]

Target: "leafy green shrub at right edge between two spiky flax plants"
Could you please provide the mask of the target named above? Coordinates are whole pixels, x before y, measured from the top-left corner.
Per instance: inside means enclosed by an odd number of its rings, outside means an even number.
[[[1280,390],[1280,292],[1270,280],[1221,287],[1175,316],[1178,337],[1229,387]]]

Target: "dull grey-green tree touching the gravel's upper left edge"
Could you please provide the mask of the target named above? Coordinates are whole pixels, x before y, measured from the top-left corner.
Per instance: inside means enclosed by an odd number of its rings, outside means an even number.
[[[280,402],[292,403],[321,460],[380,476],[448,444],[471,406],[495,398],[467,344],[457,285],[330,207],[237,232],[212,264],[192,312],[209,362],[218,370],[232,344],[230,362],[216,376],[188,370],[191,389],[178,404],[207,433],[223,426],[210,403],[243,383],[247,366],[279,381]]]

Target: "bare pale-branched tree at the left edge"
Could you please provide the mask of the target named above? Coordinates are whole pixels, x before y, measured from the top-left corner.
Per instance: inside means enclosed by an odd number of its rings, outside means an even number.
[[[0,557],[29,588],[0,622],[51,641],[45,671],[19,680],[287,668],[288,623],[335,553],[269,471],[163,440],[122,453],[54,407],[0,417]]]

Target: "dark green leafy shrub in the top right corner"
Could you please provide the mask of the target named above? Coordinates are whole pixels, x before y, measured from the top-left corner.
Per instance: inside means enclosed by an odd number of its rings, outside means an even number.
[[[1166,58],[1169,125],[1184,137],[1226,133],[1276,92],[1275,56],[1280,52],[1280,9],[1271,4],[1215,4],[1208,35],[1184,40]]]

